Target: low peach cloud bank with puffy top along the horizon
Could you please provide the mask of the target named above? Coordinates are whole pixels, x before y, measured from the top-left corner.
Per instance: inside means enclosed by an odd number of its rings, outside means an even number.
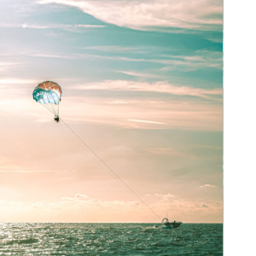
[[[151,202],[148,202],[151,201]],[[166,211],[172,218],[181,218],[184,222],[211,216],[222,217],[222,201],[188,201],[174,195],[154,194],[147,196],[147,204],[160,216]],[[65,196],[55,201],[7,201],[0,200],[0,215],[4,222],[155,222],[156,218],[139,201],[103,201],[89,195],[76,194]]]

